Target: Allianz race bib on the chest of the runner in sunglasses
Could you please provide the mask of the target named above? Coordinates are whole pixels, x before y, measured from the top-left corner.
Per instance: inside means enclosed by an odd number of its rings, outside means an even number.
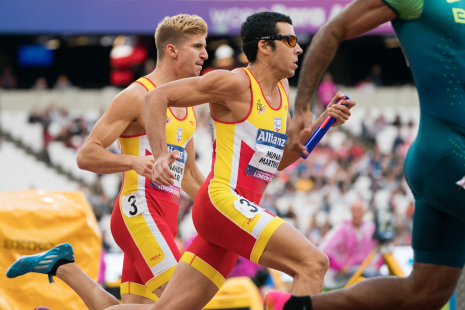
[[[283,157],[287,135],[271,130],[259,129],[255,154],[245,170],[245,174],[271,182]]]

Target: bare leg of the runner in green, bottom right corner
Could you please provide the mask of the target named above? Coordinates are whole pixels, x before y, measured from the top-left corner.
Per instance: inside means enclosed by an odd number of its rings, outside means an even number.
[[[314,310],[441,309],[452,296],[461,271],[414,263],[407,278],[364,280],[347,289],[312,296],[312,306]]]

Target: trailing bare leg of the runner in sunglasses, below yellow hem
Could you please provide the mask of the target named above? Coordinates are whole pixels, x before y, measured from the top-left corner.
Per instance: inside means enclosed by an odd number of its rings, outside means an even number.
[[[182,293],[180,293],[182,292]],[[200,310],[218,292],[218,287],[200,271],[179,262],[163,293],[163,298],[151,307],[120,305],[108,310]]]

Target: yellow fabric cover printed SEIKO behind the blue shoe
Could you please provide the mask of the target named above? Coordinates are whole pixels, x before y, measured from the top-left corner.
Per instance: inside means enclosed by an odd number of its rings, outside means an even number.
[[[76,263],[97,280],[102,247],[94,213],[81,192],[21,191],[0,193],[0,309],[87,309],[58,278],[29,273],[8,279],[5,272],[17,258],[68,242]]]

